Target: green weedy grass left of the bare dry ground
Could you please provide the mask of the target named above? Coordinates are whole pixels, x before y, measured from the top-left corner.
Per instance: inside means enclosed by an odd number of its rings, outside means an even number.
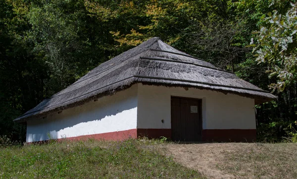
[[[161,140],[63,141],[2,147],[0,178],[200,178],[158,147]]]

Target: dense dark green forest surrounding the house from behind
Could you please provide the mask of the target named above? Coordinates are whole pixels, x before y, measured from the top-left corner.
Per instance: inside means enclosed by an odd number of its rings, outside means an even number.
[[[0,0],[0,136],[12,120],[151,37],[269,90],[257,140],[297,141],[295,0]]]

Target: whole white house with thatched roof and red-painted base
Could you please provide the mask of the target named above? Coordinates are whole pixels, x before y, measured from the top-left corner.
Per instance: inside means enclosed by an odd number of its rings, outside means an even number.
[[[268,91],[151,38],[15,119],[27,142],[49,138],[253,141]]]

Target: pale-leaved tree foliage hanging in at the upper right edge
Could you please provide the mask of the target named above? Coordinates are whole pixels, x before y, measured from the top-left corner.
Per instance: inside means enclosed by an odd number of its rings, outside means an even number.
[[[285,14],[277,10],[268,14],[264,25],[256,36],[256,61],[269,63],[269,77],[277,76],[277,83],[270,88],[283,91],[286,86],[296,83],[297,79],[297,7],[292,4]]]

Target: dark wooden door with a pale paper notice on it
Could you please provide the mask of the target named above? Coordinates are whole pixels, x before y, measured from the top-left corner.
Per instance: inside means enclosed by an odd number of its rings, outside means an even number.
[[[175,141],[201,140],[201,99],[171,97],[171,131]]]

